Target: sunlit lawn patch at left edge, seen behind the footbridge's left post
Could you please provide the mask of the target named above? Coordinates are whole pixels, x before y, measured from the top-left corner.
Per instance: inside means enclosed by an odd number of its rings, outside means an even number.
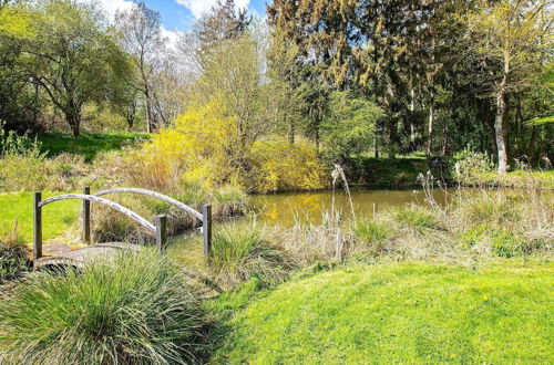
[[[63,192],[43,192],[42,199]],[[12,231],[18,223],[18,234],[27,243],[32,242],[32,192],[0,192],[0,233]],[[42,209],[42,238],[49,240],[70,229],[79,220],[81,201],[63,200]]]

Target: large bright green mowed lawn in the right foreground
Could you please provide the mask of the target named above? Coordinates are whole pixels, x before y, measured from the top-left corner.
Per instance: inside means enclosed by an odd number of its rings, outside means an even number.
[[[228,300],[214,305],[224,312]],[[553,304],[552,263],[339,269],[239,312],[213,362],[552,364]]]

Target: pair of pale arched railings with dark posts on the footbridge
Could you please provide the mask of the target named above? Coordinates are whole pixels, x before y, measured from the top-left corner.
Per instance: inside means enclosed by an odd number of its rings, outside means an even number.
[[[147,195],[151,197],[155,197],[158,199],[162,199],[164,201],[167,201],[181,209],[183,209],[186,212],[189,212],[193,215],[196,219],[201,220],[203,222],[202,227],[202,232],[204,236],[204,253],[206,255],[209,255],[211,253],[211,248],[212,248],[212,207],[211,206],[204,206],[203,209],[203,215],[194,210],[193,208],[182,204],[178,200],[175,200],[171,197],[167,197],[165,195],[155,192],[155,191],[150,191],[145,189],[136,189],[136,188],[115,188],[115,189],[109,189],[109,190],[102,190],[96,192],[95,195],[90,195],[90,187],[84,188],[84,194],[65,194],[65,195],[60,195],[55,196],[52,198],[48,198],[42,200],[42,194],[40,191],[34,192],[33,195],[33,249],[34,249],[34,259],[38,260],[42,257],[42,207],[52,204],[54,201],[60,201],[60,200],[68,200],[68,199],[78,199],[82,200],[82,238],[83,241],[89,243],[90,242],[90,232],[91,232],[91,210],[90,210],[90,202],[98,202],[105,205],[112,209],[115,209],[120,211],[121,213],[127,216],[129,218],[133,219],[134,221],[138,222],[141,226],[146,228],[147,230],[152,231],[156,236],[156,244],[160,248],[163,248],[167,241],[167,216],[161,215],[156,216],[155,219],[155,225],[152,225],[150,221],[147,221],[145,218],[141,217],[140,215],[135,213],[129,208],[123,207],[122,205],[111,201],[105,198],[101,198],[101,195],[106,195],[106,194],[113,194],[113,192],[135,192],[135,194],[143,194]]]

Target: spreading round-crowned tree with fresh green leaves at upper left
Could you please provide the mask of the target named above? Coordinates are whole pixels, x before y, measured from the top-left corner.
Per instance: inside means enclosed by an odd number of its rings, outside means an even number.
[[[13,33],[27,74],[78,136],[84,103],[102,100],[113,82],[129,74],[126,55],[93,6],[44,0],[21,6],[20,11],[32,19],[28,32]]]

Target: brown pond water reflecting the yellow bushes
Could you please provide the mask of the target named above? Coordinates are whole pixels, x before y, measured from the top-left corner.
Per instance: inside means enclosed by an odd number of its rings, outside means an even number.
[[[402,205],[427,205],[423,190],[367,190],[351,191],[353,211],[357,218],[371,217],[373,212],[388,207]],[[444,204],[445,194],[434,190],[434,198]],[[258,221],[270,226],[291,227],[297,220],[319,225],[325,215],[331,211],[332,192],[290,192],[276,195],[258,195],[252,197],[252,204],[259,209]],[[336,210],[343,217],[351,216],[350,202],[343,191],[335,197]]]

